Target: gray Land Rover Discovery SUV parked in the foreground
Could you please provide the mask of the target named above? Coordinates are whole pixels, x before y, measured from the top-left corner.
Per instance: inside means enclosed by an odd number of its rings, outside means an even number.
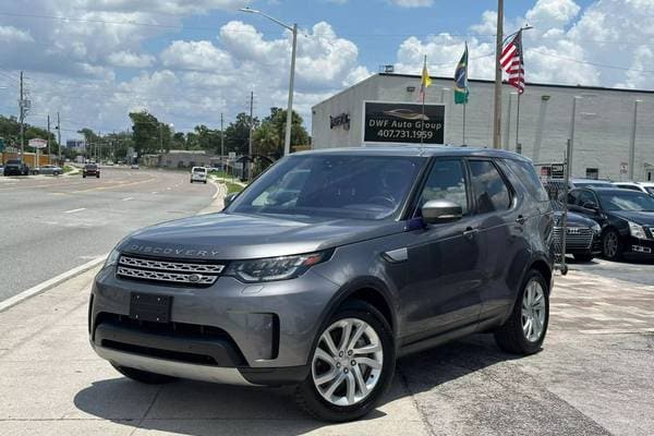
[[[519,155],[299,153],[227,203],[130,234],[98,272],[90,343],[123,375],[296,385],[306,411],[348,421],[399,356],[489,331],[541,349],[553,213]]]

